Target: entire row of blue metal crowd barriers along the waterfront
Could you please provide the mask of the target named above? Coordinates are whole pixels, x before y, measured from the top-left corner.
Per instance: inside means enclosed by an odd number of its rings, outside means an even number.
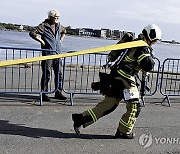
[[[47,51],[55,52],[41,49],[0,47],[0,60],[32,58],[41,56],[42,52]],[[167,99],[170,106],[169,96],[180,96],[180,59],[165,59],[162,69],[160,69],[159,59],[155,58],[154,60],[156,65],[146,82],[150,89],[146,92],[146,96],[152,96],[160,90],[160,93],[165,96],[164,100]],[[73,105],[75,94],[100,94],[99,91],[91,89],[91,83],[99,80],[99,72],[110,72],[110,69],[104,67],[107,64],[107,53],[66,57],[62,61],[62,89],[70,95],[71,105]],[[41,76],[41,61],[0,67],[0,93],[38,94],[40,95],[40,105],[42,105],[42,94],[54,93],[57,90],[55,87],[58,86],[54,85],[52,68],[48,91],[41,90]]]

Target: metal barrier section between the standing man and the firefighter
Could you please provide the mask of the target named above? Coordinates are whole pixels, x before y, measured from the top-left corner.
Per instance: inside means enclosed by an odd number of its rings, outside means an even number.
[[[96,94],[91,83],[99,80],[99,72],[108,72],[103,65],[107,63],[107,54],[95,53],[64,58],[63,90],[70,94],[73,105],[74,94]]]

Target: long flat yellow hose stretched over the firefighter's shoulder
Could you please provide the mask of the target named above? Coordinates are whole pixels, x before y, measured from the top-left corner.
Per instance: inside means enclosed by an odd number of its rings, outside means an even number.
[[[25,59],[4,60],[4,61],[0,61],[0,67],[23,64],[23,63],[31,63],[31,62],[42,61],[42,60],[71,57],[71,56],[77,56],[77,55],[83,55],[83,54],[89,54],[89,53],[104,52],[104,51],[110,51],[110,50],[121,50],[121,49],[140,47],[140,46],[148,46],[148,45],[144,41],[140,40],[140,41],[132,41],[132,42],[127,42],[127,43],[110,45],[110,46],[105,46],[105,47],[100,47],[100,48],[82,50],[82,51],[77,51],[77,52],[72,52],[72,53],[64,53],[64,54],[57,54],[57,55],[50,55],[50,56],[40,56],[40,57],[25,58]]]

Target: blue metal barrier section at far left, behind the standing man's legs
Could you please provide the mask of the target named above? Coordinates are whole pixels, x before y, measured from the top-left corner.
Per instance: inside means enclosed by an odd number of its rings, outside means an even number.
[[[0,47],[0,60],[16,60],[41,56],[42,52],[53,50]],[[41,91],[41,61],[0,67],[0,93],[39,94],[42,105],[42,94],[56,91],[54,74],[50,71],[49,90]]]

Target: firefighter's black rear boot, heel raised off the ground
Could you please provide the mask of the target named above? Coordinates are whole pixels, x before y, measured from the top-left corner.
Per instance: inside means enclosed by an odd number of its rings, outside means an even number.
[[[72,114],[72,120],[74,121],[73,127],[77,135],[80,135],[80,127],[82,125],[82,114]]]

